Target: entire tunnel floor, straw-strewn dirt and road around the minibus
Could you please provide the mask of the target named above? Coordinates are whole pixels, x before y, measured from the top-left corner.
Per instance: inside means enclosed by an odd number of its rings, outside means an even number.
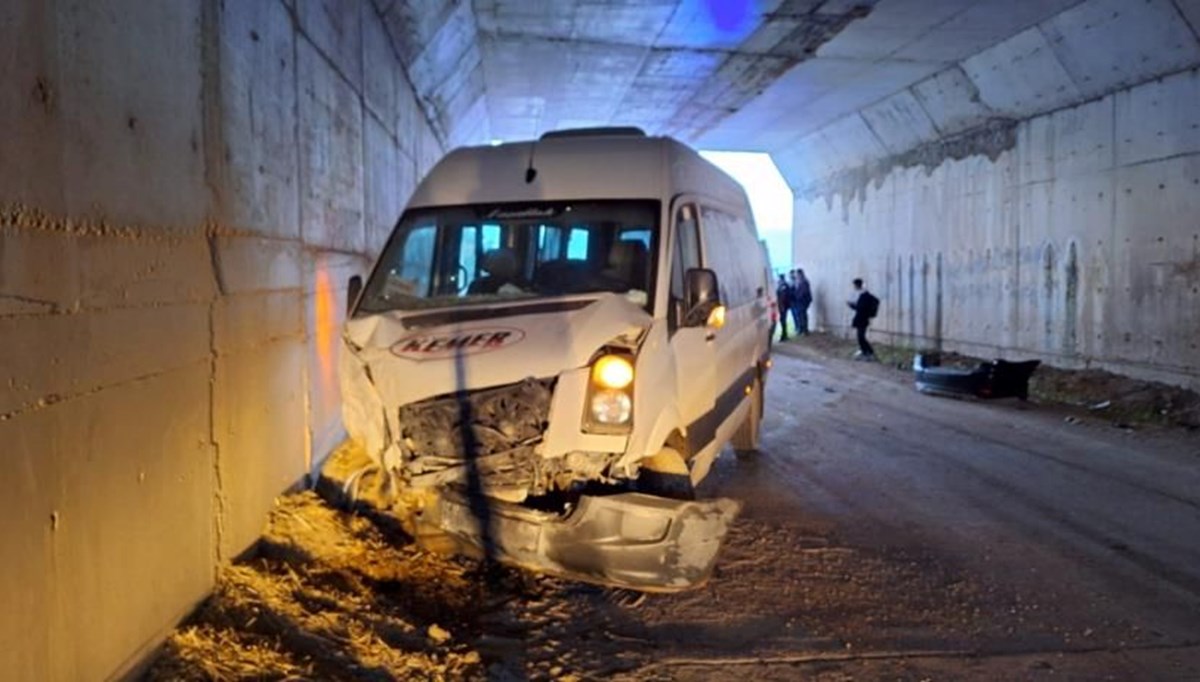
[[[700,588],[493,573],[306,492],[150,678],[1200,681],[1200,436],[805,352],[698,490],[743,503]]]

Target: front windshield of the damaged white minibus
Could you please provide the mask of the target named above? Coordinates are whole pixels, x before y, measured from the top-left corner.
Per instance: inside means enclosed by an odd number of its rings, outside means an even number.
[[[613,292],[653,306],[655,201],[534,202],[404,214],[359,311]]]

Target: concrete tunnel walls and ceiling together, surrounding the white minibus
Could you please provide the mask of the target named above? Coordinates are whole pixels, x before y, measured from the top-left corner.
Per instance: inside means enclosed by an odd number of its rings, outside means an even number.
[[[347,281],[452,148],[772,155],[816,325],[1200,387],[1196,0],[14,0],[0,670],[134,666],[342,439]]]

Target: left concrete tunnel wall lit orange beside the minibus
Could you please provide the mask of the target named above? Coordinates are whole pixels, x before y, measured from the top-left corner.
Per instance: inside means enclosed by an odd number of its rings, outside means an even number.
[[[338,441],[344,282],[443,145],[367,2],[20,0],[0,46],[0,678],[104,678]]]

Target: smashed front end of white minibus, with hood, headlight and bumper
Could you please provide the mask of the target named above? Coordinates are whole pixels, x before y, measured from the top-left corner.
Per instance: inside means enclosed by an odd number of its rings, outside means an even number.
[[[708,578],[738,503],[638,490],[647,453],[629,450],[620,418],[653,395],[635,379],[652,325],[614,293],[360,315],[344,334],[346,426],[416,537],[565,578],[686,590]]]

